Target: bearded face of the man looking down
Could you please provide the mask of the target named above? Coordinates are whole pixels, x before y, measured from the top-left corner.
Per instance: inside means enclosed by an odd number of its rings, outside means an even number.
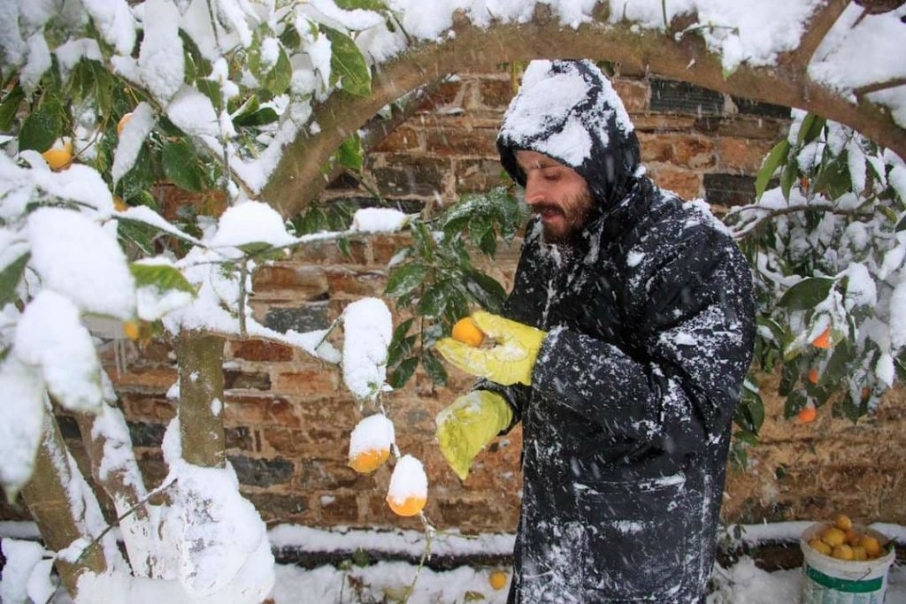
[[[525,203],[541,216],[545,242],[562,243],[578,234],[594,203],[585,179],[537,151],[516,151],[516,163],[525,174]]]

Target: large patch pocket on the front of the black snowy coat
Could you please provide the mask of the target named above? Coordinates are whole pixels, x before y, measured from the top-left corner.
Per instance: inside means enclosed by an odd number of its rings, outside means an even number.
[[[678,474],[633,483],[577,485],[595,599],[671,601],[682,592],[689,551],[689,494]]]

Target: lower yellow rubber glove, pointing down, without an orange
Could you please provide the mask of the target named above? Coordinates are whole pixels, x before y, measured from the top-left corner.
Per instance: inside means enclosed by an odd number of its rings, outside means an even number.
[[[472,460],[513,421],[513,411],[496,392],[475,390],[454,400],[434,419],[440,452],[460,480]]]

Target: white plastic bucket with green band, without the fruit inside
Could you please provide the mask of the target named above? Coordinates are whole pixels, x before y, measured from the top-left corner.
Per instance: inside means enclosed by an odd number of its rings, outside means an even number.
[[[896,557],[891,541],[880,532],[853,524],[856,532],[869,534],[887,551],[881,558],[866,561],[837,560],[809,546],[831,523],[809,527],[799,540],[805,555],[802,581],[803,604],[881,604],[887,591],[887,572]]]

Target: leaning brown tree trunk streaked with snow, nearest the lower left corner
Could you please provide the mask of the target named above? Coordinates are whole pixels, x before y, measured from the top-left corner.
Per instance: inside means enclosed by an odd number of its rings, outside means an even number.
[[[78,539],[86,544],[94,539],[86,517],[96,513],[100,518],[101,508],[69,454],[50,406],[44,414],[43,438],[34,460],[34,474],[22,494],[48,550],[61,551]],[[101,543],[92,543],[75,563],[58,558],[54,564],[73,599],[82,573],[100,574],[108,568]]]

